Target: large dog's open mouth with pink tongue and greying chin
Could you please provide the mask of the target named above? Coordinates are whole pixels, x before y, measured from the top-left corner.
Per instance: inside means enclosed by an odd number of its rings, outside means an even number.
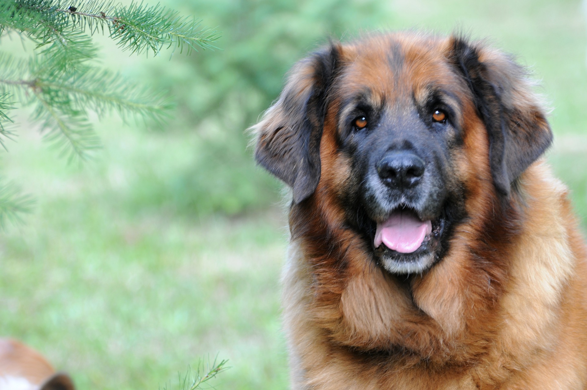
[[[446,217],[421,220],[414,209],[397,207],[376,224],[373,247],[383,267],[392,273],[416,273],[436,260]]]

